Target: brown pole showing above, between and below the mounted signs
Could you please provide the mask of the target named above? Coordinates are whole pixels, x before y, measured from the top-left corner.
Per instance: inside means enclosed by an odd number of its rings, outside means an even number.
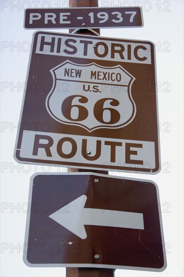
[[[77,7],[98,7],[98,0],[69,0],[70,8]],[[100,29],[95,29],[100,34]],[[72,33],[73,29],[69,29],[69,33]],[[80,35],[95,35],[88,29],[80,29],[75,34]],[[97,172],[102,174],[108,174],[108,171],[89,170],[70,168],[71,172]],[[110,268],[85,268],[85,267],[66,267],[66,277],[114,277],[114,269]]]

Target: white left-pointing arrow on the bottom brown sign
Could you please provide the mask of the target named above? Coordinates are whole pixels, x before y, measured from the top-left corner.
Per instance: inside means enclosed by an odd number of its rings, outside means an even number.
[[[81,239],[87,234],[84,225],[144,230],[143,214],[84,208],[86,195],[81,195],[49,217]]]

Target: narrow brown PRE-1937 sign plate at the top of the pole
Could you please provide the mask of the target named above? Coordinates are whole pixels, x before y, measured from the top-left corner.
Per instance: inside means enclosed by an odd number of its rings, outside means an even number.
[[[26,9],[26,29],[143,27],[142,8]]]

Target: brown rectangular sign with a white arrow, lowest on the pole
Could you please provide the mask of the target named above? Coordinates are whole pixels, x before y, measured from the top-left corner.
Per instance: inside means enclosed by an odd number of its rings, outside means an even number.
[[[166,268],[158,188],[96,173],[35,174],[24,261],[29,266]]]

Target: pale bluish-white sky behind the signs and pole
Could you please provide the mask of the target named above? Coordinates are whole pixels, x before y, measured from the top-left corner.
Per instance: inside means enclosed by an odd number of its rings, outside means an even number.
[[[34,268],[23,262],[30,178],[38,172],[67,172],[66,168],[55,166],[20,164],[13,156],[35,32],[23,28],[24,11],[35,5],[66,8],[68,1],[1,1],[1,275],[4,277],[65,276],[65,268]],[[149,179],[158,185],[167,267],[162,272],[117,269],[115,276],[179,277],[183,276],[183,1],[99,1],[99,7],[135,5],[143,10],[142,28],[101,29],[101,36],[155,44],[161,171],[154,175],[109,174]]]

